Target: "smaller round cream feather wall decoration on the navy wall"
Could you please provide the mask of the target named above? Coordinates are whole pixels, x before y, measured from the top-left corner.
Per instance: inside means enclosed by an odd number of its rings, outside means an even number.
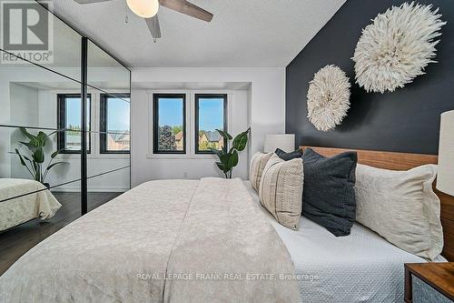
[[[321,68],[310,82],[308,118],[318,130],[328,131],[341,124],[350,108],[349,78],[338,66]]]

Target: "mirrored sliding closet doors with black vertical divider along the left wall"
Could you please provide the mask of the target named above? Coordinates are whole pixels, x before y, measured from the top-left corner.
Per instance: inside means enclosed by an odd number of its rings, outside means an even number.
[[[0,48],[0,275],[131,187],[130,71],[47,6],[24,4],[12,9],[39,16],[44,46],[21,45],[13,28]]]

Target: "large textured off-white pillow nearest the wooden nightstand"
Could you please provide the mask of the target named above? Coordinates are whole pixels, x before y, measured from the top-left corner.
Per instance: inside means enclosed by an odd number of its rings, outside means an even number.
[[[443,248],[439,197],[432,189],[437,166],[394,171],[358,165],[356,220],[390,243],[433,260]]]

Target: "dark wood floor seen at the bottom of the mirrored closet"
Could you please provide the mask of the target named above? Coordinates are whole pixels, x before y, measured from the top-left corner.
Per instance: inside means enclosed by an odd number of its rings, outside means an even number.
[[[0,276],[30,248],[73,222],[81,215],[79,193],[54,192],[62,207],[54,217],[47,220],[35,219],[18,227],[0,232]],[[121,193],[89,193],[88,210],[93,210]]]

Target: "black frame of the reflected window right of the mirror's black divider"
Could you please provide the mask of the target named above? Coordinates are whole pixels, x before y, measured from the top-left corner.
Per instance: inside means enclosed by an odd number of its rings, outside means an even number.
[[[107,99],[109,97],[114,97],[114,98],[131,98],[131,96],[127,93],[122,93],[122,94],[100,94],[99,96],[99,153],[102,155],[128,155],[131,154],[131,143],[129,145],[128,150],[108,150],[107,149],[107,142],[106,142],[106,136],[107,136]],[[131,111],[131,103],[130,103],[130,109]],[[129,134],[131,136],[131,121],[130,121],[130,130]]]

